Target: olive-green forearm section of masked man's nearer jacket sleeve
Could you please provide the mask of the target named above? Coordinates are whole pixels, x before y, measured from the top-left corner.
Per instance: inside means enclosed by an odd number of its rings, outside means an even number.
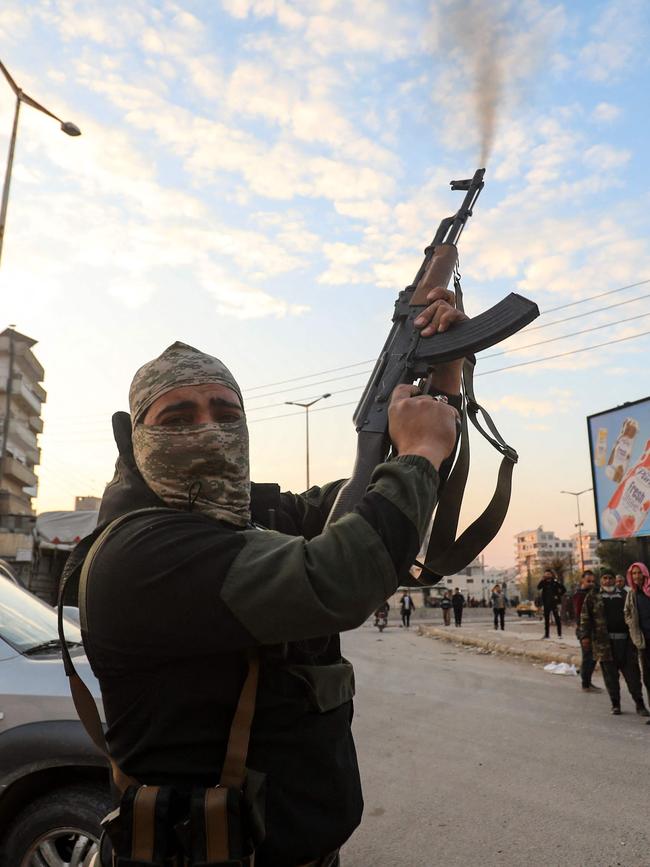
[[[375,470],[359,507],[319,536],[246,533],[221,589],[261,644],[353,629],[397,589],[427,530],[438,475],[406,455]]]

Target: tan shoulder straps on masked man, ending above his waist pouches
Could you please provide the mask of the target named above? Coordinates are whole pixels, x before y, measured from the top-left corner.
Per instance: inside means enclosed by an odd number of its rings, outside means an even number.
[[[108,524],[97,539],[95,539],[84,560],[79,580],[79,619],[84,632],[87,632],[86,600],[88,577],[93,561],[97,556],[99,549],[106,541],[106,538],[110,533],[116,530],[118,526],[126,523],[128,519],[133,518],[136,515],[142,515],[146,512],[162,511],[167,511],[167,509],[154,506],[147,509],[137,509],[133,512],[128,512]],[[133,777],[125,774],[120,769],[117,762],[112,758],[108,750],[108,745],[106,744],[106,738],[104,737],[104,729],[99,716],[97,703],[86,684],[79,677],[77,670],[74,667],[74,663],[72,662],[63,629],[63,596],[65,592],[65,584],[66,581],[63,581],[59,588],[58,624],[59,638],[61,640],[61,648],[63,652],[63,664],[70,684],[72,700],[79,715],[79,719],[81,720],[81,723],[90,739],[93,741],[97,749],[108,759],[115,786],[121,793],[124,793],[129,786],[139,786],[140,784],[137,780],[133,779]],[[256,649],[252,649],[249,652],[248,674],[246,675],[244,685],[239,695],[239,701],[230,727],[228,748],[226,750],[226,757],[221,772],[220,785],[222,786],[241,789],[244,783],[250,730],[255,713],[258,677],[259,655]]]

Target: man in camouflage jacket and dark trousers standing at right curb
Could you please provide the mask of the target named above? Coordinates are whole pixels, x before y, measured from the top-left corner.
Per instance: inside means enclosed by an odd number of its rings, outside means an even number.
[[[612,702],[612,713],[621,713],[619,672],[636,705],[640,716],[650,716],[643,703],[641,674],[636,648],[630,640],[625,622],[625,591],[615,585],[612,572],[600,576],[600,591],[595,588],[585,597],[580,615],[581,643],[591,648],[599,660],[605,686]]]

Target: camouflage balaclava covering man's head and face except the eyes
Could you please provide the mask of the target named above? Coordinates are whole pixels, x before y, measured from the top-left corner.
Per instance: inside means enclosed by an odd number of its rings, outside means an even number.
[[[165,392],[219,383],[241,391],[225,364],[176,342],[133,377],[129,406],[133,455],[147,485],[167,505],[194,509],[239,527],[250,522],[246,418],[211,424],[145,425],[149,407]]]

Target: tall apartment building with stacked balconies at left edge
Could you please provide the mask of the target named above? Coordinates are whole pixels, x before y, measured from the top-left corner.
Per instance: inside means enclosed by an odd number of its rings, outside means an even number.
[[[32,559],[34,510],[41,460],[44,370],[36,341],[13,328],[0,333],[0,557],[22,574]]]

